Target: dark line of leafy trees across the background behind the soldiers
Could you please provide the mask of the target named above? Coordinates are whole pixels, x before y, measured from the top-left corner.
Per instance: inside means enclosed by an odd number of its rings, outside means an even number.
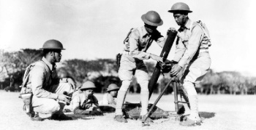
[[[18,91],[26,67],[41,59],[42,51],[36,49],[20,49],[17,52],[0,50],[0,89]],[[153,73],[155,64],[156,62],[146,62],[149,76]],[[78,86],[87,80],[94,81],[97,86],[96,92],[105,92],[112,83],[121,86],[114,59],[64,60],[57,68],[57,72],[60,78],[73,78]],[[136,79],[132,80],[129,92],[140,92]],[[169,80],[168,73],[160,76],[154,92],[161,92]],[[256,78],[242,76],[235,71],[215,73],[214,70],[209,70],[203,81],[196,84],[196,88],[201,94],[256,94]],[[172,87],[167,89],[166,94],[171,92]]]

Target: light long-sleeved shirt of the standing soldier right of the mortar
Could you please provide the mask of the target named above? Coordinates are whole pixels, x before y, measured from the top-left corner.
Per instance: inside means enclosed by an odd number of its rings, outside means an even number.
[[[200,25],[192,23],[191,20],[188,20],[184,27],[178,29],[177,37],[178,43],[173,60],[177,61],[178,65],[182,68],[192,59],[196,58],[194,56],[196,53],[199,53],[199,49],[208,49],[209,45],[206,34]]]

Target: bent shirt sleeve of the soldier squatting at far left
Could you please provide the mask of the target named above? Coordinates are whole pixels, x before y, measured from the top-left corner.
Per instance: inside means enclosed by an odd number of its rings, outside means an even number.
[[[42,66],[35,65],[30,72],[29,78],[31,78],[31,89],[34,96],[39,98],[57,99],[58,94],[53,94],[42,89],[42,84],[45,81],[45,71]]]

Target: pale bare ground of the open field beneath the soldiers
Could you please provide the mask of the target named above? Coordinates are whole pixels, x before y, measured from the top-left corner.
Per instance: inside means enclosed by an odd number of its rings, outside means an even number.
[[[18,99],[18,92],[4,92],[0,90],[0,129],[256,129],[256,96],[233,95],[200,95],[199,110],[206,118],[202,126],[179,126],[174,118],[154,120],[150,126],[142,127],[141,121],[128,119],[128,123],[118,123],[113,120],[114,113],[105,113],[104,116],[84,117],[73,121],[42,122],[31,121],[23,112],[23,101]],[[102,94],[94,94],[99,100]],[[150,103],[157,99],[157,94],[151,97]],[[139,94],[127,94],[128,102],[140,102]],[[158,107],[173,112],[174,98],[172,94],[164,95]],[[68,113],[69,116],[74,116]]]

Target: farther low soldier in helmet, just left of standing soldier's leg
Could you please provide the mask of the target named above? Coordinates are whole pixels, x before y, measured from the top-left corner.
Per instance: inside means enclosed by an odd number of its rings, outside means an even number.
[[[116,97],[118,94],[119,87],[116,84],[110,84],[107,92],[103,95],[102,105],[111,105],[116,107]]]

